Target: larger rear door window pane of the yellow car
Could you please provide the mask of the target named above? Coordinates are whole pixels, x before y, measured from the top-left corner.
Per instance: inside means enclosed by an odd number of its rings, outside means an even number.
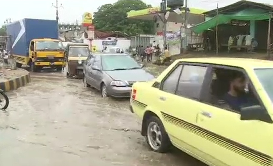
[[[176,94],[182,97],[199,99],[207,67],[184,65],[178,81]]]

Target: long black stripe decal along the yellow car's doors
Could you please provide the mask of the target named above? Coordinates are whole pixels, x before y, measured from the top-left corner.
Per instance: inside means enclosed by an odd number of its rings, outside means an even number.
[[[161,112],[161,113],[162,113],[163,119],[168,123],[172,123],[176,126],[186,129],[189,132],[192,132],[204,139],[214,142],[217,145],[220,145],[228,150],[231,150],[232,152],[242,155],[245,158],[248,158],[248,159],[250,159],[258,164],[261,164],[263,166],[271,166],[271,164],[272,164],[272,158],[269,155],[258,152],[252,148],[249,148],[249,147],[242,145],[238,142],[232,141],[231,139],[227,139],[223,136],[220,136],[220,135],[215,134],[211,131],[203,129],[199,126],[188,123],[184,120],[178,119],[178,118],[171,116],[167,113],[164,113],[164,112]]]

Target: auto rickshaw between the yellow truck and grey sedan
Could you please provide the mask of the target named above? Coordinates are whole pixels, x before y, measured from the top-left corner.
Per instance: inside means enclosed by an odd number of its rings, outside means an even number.
[[[66,77],[83,78],[83,63],[90,54],[88,44],[69,43],[66,46]]]

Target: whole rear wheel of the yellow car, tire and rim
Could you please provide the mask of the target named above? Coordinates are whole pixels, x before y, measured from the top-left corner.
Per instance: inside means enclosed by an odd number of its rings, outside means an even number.
[[[150,149],[159,153],[168,152],[171,142],[161,120],[152,116],[146,121],[146,125],[146,140]]]

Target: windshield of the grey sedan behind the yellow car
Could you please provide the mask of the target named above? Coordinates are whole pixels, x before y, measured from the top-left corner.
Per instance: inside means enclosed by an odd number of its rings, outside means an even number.
[[[127,55],[102,56],[103,70],[140,69],[140,65]]]

